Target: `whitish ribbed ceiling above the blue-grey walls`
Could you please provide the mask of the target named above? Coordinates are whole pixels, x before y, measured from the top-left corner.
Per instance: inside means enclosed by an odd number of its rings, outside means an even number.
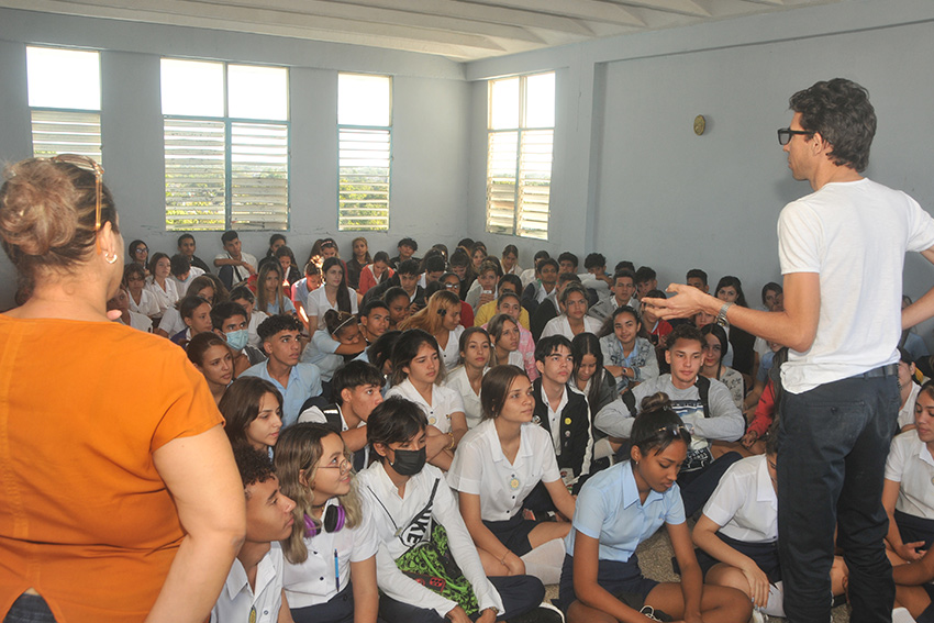
[[[840,0],[0,0],[0,7],[475,60]]]

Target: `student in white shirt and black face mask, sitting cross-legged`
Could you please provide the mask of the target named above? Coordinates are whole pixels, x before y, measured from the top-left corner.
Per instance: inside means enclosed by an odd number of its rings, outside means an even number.
[[[402,398],[377,407],[367,424],[377,460],[359,475],[359,490],[366,521],[379,538],[380,618],[389,623],[467,623],[472,615],[493,623],[532,610],[545,594],[542,582],[524,575],[483,574],[444,475],[425,465],[427,427],[424,413]],[[412,569],[420,568],[413,560],[419,549],[434,548],[427,542],[443,547],[460,569],[460,576],[444,578],[445,585],[469,583],[470,590],[437,591],[431,588],[435,582],[412,579]]]

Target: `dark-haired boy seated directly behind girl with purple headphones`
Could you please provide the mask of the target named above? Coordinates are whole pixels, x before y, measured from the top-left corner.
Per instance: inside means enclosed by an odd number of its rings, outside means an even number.
[[[366,423],[382,402],[383,385],[386,379],[376,366],[351,361],[331,379],[334,402],[309,407],[299,415],[299,422],[327,424],[340,432],[347,450],[354,455],[354,470],[359,472],[369,465]]]

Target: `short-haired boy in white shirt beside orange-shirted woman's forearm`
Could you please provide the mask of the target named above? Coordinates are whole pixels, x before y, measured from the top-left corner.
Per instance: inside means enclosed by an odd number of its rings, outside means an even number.
[[[211,609],[211,623],[288,620],[278,542],[292,532],[296,503],[279,490],[266,454],[241,446],[234,448],[234,459],[246,496],[246,537]]]

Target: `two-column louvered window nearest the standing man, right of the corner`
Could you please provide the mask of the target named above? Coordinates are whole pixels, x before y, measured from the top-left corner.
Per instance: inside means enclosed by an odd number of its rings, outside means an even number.
[[[491,80],[487,231],[546,240],[555,140],[555,75]]]

